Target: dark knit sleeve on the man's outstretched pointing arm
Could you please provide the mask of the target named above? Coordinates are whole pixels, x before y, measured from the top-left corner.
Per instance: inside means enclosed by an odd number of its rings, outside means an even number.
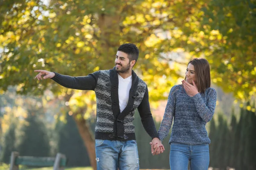
[[[54,72],[55,73],[55,72]],[[96,71],[88,76],[71,77],[55,73],[52,78],[58,84],[77,90],[94,90],[97,84],[100,71]]]

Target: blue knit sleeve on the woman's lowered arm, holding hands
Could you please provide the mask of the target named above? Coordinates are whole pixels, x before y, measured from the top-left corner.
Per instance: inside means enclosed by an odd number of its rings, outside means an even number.
[[[175,85],[172,87],[169,93],[166,109],[163,115],[163,120],[158,130],[160,141],[163,141],[163,139],[166,138],[169,130],[171,129],[172,120],[175,113],[176,93],[179,89],[179,85]]]

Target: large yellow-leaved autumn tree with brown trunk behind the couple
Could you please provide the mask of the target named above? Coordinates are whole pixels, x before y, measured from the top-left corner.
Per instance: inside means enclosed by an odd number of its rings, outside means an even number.
[[[213,18],[216,14],[210,15],[212,9],[218,8],[214,2],[218,0],[51,0],[49,4],[37,0],[2,1],[0,90],[17,85],[19,93],[39,95],[49,88],[68,102],[77,91],[60,88],[52,81],[38,83],[33,79],[33,70],[81,76],[109,69],[113,67],[117,47],[133,42],[140,48],[134,69],[147,82],[152,101],[167,98],[170,87],[184,77],[178,66],[186,66],[183,60],[191,57],[206,57],[212,66],[213,82],[240,99],[247,99],[256,92],[256,68],[252,65],[255,31],[250,31],[255,28],[255,18],[246,15],[249,26],[239,27],[234,24],[236,16],[230,12],[233,20],[228,20],[227,25],[233,28],[233,34],[248,30],[251,34],[239,39],[226,35],[213,27],[221,22]],[[225,9],[230,7],[228,3],[223,5]],[[241,8],[244,14],[248,9],[255,11],[247,6]],[[240,48],[233,46],[235,42],[241,42]],[[244,64],[247,67],[241,67]],[[82,96],[88,97],[87,92]],[[90,107],[86,102],[79,103],[73,117],[96,169],[94,139],[88,138],[92,133],[84,119]]]

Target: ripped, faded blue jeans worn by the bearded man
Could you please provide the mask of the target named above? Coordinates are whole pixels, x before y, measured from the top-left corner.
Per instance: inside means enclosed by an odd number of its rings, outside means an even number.
[[[139,155],[135,140],[95,141],[97,170],[139,170]]]

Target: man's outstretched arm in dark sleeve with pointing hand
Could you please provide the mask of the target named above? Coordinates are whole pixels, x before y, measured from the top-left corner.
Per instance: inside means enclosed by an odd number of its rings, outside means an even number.
[[[39,72],[35,77],[38,80],[53,79],[55,82],[66,88],[78,90],[94,90],[99,75],[99,71],[89,74],[88,76],[81,77],[71,77],[46,70],[35,70],[35,72]]]

